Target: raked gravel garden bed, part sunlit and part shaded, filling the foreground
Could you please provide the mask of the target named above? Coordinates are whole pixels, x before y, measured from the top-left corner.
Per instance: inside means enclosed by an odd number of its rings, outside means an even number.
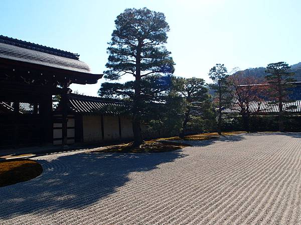
[[[42,175],[0,188],[0,223],[300,224],[300,137],[242,134],[163,153],[36,157]]]

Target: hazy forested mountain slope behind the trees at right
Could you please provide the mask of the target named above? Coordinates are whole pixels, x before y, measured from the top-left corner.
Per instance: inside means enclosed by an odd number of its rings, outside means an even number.
[[[301,62],[293,64],[290,67],[291,71],[295,73],[293,78],[297,81],[301,81]],[[264,72],[265,69],[265,67],[248,68],[239,72],[241,72],[243,76],[254,76],[259,82],[262,82],[266,76],[266,73]]]

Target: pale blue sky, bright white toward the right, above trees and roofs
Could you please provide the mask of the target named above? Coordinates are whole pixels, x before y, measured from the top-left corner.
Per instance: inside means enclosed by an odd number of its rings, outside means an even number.
[[[0,33],[79,53],[102,73],[116,16],[144,6],[166,15],[177,76],[210,81],[215,63],[231,70],[301,61],[300,0],[1,0]],[[97,95],[103,81],[71,88]]]

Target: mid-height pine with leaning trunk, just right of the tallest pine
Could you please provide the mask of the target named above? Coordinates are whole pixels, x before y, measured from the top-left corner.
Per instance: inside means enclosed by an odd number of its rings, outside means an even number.
[[[174,89],[184,98],[185,102],[184,120],[179,134],[180,137],[184,137],[187,123],[192,120],[194,116],[200,116],[202,114],[204,107],[200,106],[200,104],[205,103],[209,98],[208,89],[205,86],[205,80],[196,77],[175,77]]]

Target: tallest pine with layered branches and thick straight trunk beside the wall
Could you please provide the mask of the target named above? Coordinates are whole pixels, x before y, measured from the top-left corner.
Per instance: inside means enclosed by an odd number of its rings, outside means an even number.
[[[126,85],[113,83],[110,88],[117,90],[119,94],[129,93],[132,100],[132,128],[134,134],[134,146],[139,145],[143,139],[141,135],[141,111],[145,99],[141,95],[142,80],[153,74],[170,74],[174,72],[174,61],[171,52],[165,47],[167,32],[170,30],[162,12],[156,12],[147,8],[127,8],[119,14],[115,20],[116,29],[113,30],[111,41],[107,51],[109,53],[104,71],[105,78],[117,80],[121,76],[134,76],[132,83]],[[115,87],[113,87],[115,85]],[[129,86],[131,85],[131,86]],[[103,89],[99,90],[99,93]],[[156,90],[154,90],[156,91]],[[150,96],[147,96],[148,98]]]

